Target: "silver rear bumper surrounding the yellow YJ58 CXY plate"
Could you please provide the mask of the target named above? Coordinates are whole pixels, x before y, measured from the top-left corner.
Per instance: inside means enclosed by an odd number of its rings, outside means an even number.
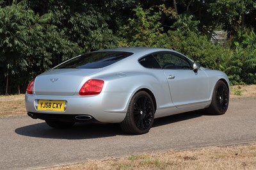
[[[41,120],[120,123],[126,116],[129,95],[131,93],[100,93],[92,97],[26,94],[26,110],[31,118]],[[38,100],[65,100],[67,107],[65,111],[39,111]]]

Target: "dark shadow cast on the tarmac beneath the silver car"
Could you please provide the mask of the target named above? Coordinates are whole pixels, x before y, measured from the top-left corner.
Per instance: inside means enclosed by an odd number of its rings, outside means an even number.
[[[186,121],[200,116],[202,116],[202,114],[194,111],[157,118],[152,128],[179,121]],[[130,135],[122,132],[118,124],[95,123],[76,123],[72,128],[56,129],[49,127],[43,122],[17,128],[15,132],[19,135],[50,139],[95,139],[115,135]]]

